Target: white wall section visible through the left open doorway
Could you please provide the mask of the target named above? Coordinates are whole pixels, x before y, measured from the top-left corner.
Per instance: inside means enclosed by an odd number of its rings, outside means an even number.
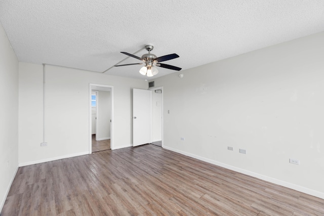
[[[99,136],[98,140],[110,139],[110,112],[111,112],[111,97],[110,92],[99,91],[98,93],[98,123]]]

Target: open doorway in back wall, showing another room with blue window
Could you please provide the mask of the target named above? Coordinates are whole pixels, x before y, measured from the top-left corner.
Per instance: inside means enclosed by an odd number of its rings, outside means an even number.
[[[113,148],[113,87],[90,84],[89,153]]]

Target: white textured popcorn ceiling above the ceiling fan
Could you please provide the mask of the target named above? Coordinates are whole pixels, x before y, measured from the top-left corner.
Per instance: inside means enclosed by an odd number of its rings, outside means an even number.
[[[121,51],[152,44],[185,70],[324,31],[324,1],[0,0],[0,21],[22,62],[103,72],[127,57]],[[106,74],[147,78],[140,67]],[[154,77],[175,72],[158,69]]]

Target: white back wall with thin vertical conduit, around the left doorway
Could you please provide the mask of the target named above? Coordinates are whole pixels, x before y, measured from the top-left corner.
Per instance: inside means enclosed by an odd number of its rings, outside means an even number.
[[[89,152],[89,83],[114,87],[114,148],[132,146],[133,88],[147,81],[46,65],[46,142],[43,142],[43,66],[19,63],[19,164]],[[28,95],[28,97],[27,97]]]

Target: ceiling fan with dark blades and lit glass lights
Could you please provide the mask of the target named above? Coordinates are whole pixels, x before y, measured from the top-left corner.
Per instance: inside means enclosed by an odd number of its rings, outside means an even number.
[[[130,53],[120,52],[120,53],[123,53],[130,57],[133,57],[135,59],[141,60],[141,61],[143,61],[142,63],[133,63],[133,64],[124,64],[124,65],[115,65],[115,66],[119,67],[119,66],[126,66],[126,65],[144,65],[145,64],[145,66],[143,66],[140,69],[140,73],[142,75],[147,75],[147,76],[156,75],[158,73],[158,70],[156,67],[164,67],[167,69],[178,70],[178,71],[182,69],[180,67],[160,63],[160,62],[178,58],[179,56],[177,54],[174,53],[174,54],[169,54],[166,56],[156,57],[154,54],[151,54],[151,51],[153,50],[152,45],[145,45],[145,49],[148,51],[148,53],[144,54],[141,58],[138,56],[134,56],[133,54],[130,54]]]

